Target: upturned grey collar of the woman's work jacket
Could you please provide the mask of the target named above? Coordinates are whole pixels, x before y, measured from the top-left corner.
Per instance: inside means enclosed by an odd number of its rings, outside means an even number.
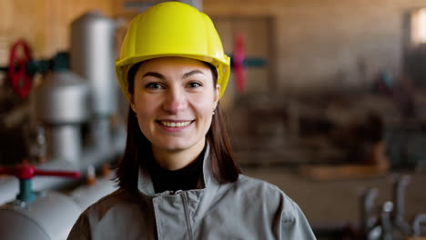
[[[206,141],[206,151],[204,151],[204,159],[203,159],[203,184],[204,187],[207,188],[210,185],[218,185],[218,182],[213,177],[213,174],[211,172],[211,164],[210,164],[210,146],[208,145],[208,142]],[[139,168],[139,175],[137,178],[137,188],[139,192],[143,195],[160,195],[156,194],[154,191],[154,185],[152,183],[151,176],[147,172],[146,167],[140,167]],[[191,190],[188,190],[191,191]],[[169,194],[170,192],[165,192],[163,194]]]

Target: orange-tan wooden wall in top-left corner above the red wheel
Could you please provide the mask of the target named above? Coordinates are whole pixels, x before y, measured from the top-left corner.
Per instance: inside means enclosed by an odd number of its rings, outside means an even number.
[[[69,46],[69,26],[87,11],[114,15],[115,0],[2,0],[0,8],[0,65],[9,47],[24,38],[36,58],[51,57]]]

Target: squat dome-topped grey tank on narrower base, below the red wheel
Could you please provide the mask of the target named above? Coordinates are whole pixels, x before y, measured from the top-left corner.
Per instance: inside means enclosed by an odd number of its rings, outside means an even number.
[[[77,162],[82,153],[81,124],[89,117],[88,85],[78,75],[58,69],[35,88],[35,122],[46,128],[49,158]]]

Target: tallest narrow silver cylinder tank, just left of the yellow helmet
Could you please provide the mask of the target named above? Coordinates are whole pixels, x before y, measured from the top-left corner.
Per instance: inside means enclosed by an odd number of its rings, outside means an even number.
[[[71,24],[71,69],[90,85],[91,140],[101,148],[110,145],[109,118],[117,110],[116,28],[114,20],[97,12]]]

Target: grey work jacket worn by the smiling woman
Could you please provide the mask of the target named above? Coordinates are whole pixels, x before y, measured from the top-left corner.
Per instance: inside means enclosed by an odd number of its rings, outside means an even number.
[[[155,194],[141,170],[140,195],[106,195],[80,215],[67,239],[316,239],[299,205],[277,186],[246,175],[218,184],[208,149],[203,177],[202,189]]]

